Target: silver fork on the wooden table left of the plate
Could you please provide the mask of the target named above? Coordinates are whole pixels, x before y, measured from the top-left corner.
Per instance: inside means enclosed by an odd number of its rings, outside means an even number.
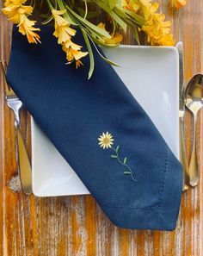
[[[7,105],[10,109],[14,111],[15,116],[15,136],[17,142],[17,151],[18,151],[18,164],[19,164],[19,172],[22,184],[22,191],[26,195],[32,194],[32,172],[31,172],[31,165],[28,159],[27,149],[25,147],[25,142],[22,137],[22,128],[20,122],[20,110],[22,109],[22,102],[20,99],[15,95],[15,92],[11,89],[7,82],[6,78],[6,70],[7,70],[7,63],[6,61],[0,61],[1,69],[3,72],[4,78],[4,91],[5,91],[5,99]]]

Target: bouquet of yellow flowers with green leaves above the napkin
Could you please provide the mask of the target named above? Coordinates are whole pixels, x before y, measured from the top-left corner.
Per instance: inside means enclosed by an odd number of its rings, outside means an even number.
[[[26,35],[29,43],[40,41],[40,28],[32,20],[34,8],[38,6],[35,0],[6,0],[3,14],[18,26],[19,32]],[[83,57],[89,55],[89,78],[95,61],[92,47],[102,59],[111,65],[114,62],[105,58],[98,50],[101,47],[116,47],[120,45],[126,29],[132,30],[139,44],[139,34],[144,32],[151,45],[173,46],[175,41],[170,33],[171,22],[165,21],[165,16],[158,12],[159,4],[151,0],[41,0],[41,23],[51,22],[66,54],[67,64],[75,63],[76,68],[83,66]],[[47,9],[45,12],[44,9]],[[39,7],[38,7],[39,11]],[[107,16],[105,21],[95,23],[95,18]],[[88,52],[74,41],[77,29],[81,30]]]

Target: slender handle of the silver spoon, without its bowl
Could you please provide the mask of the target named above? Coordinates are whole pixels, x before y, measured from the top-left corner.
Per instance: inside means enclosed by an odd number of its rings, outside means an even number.
[[[189,184],[192,187],[195,187],[199,181],[197,155],[196,155],[196,121],[197,121],[197,114],[194,113],[194,139],[193,139],[191,159],[189,163]]]

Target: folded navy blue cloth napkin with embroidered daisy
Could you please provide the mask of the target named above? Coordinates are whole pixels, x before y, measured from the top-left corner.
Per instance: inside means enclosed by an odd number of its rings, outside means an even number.
[[[95,54],[88,80],[89,58],[65,66],[52,32],[30,45],[13,30],[9,84],[115,225],[174,229],[180,162],[112,66]]]

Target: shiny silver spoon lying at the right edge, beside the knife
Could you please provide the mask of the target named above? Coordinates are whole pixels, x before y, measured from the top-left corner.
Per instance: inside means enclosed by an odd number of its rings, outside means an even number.
[[[194,187],[198,184],[198,161],[196,153],[196,122],[197,114],[203,107],[203,75],[195,75],[188,83],[185,91],[185,103],[194,116],[194,139],[189,164],[189,184]]]

